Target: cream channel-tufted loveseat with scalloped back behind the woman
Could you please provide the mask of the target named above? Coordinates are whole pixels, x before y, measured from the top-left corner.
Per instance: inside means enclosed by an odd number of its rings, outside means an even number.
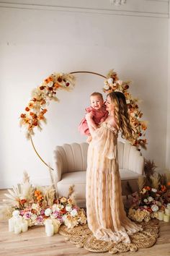
[[[57,146],[53,181],[58,188],[58,194],[67,197],[68,189],[74,185],[75,198],[79,206],[86,204],[86,158],[88,144],[73,143]],[[144,158],[140,152],[128,142],[118,142],[118,161],[122,181],[122,195],[138,191],[138,176],[143,174]],[[128,186],[130,184],[130,187]]]

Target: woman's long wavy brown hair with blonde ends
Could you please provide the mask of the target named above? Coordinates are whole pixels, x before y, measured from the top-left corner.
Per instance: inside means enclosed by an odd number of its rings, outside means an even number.
[[[125,95],[120,92],[112,92],[107,96],[110,97],[111,103],[115,107],[115,121],[117,128],[120,129],[122,137],[130,142],[134,142],[133,128],[130,126],[130,119],[128,114],[128,106],[126,103]]]

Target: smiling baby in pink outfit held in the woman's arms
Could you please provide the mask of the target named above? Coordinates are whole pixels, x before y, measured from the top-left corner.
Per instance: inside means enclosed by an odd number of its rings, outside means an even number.
[[[85,108],[86,114],[92,114],[93,118],[91,119],[91,126],[94,129],[97,129],[99,123],[107,119],[108,111],[104,105],[102,93],[92,93],[90,95],[90,102],[91,106]],[[82,119],[79,124],[79,132],[81,132],[82,135],[88,136],[86,142],[91,142],[91,135],[85,118]]]

